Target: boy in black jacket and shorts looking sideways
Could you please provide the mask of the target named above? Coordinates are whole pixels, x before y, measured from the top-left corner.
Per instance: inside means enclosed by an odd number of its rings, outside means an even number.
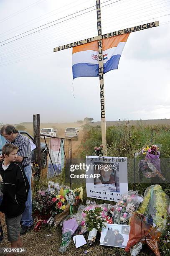
[[[5,213],[8,241],[11,242],[12,248],[22,246],[20,220],[25,210],[25,202],[30,188],[23,168],[15,163],[17,150],[18,147],[13,144],[5,144],[2,149],[4,161],[0,163],[0,175],[3,179],[1,184],[3,202],[0,205],[0,211]]]

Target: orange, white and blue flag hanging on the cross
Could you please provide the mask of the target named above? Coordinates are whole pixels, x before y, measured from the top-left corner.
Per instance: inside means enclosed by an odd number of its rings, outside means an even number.
[[[104,74],[118,69],[119,59],[128,37],[129,33],[102,39]],[[73,79],[76,77],[98,77],[98,58],[97,41],[73,47]]]

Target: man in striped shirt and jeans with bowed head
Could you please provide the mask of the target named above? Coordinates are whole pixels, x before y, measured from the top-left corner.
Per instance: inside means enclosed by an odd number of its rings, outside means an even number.
[[[21,225],[20,234],[25,234],[30,227],[33,225],[32,218],[32,192],[31,192],[31,148],[30,141],[28,137],[23,136],[18,132],[18,130],[13,125],[4,125],[0,129],[0,134],[6,139],[6,143],[12,143],[14,146],[18,147],[16,162],[23,166],[25,175],[28,179],[30,190],[28,192],[28,199],[26,202],[26,208],[23,212],[21,220],[23,221]],[[3,157],[0,156],[0,161]]]

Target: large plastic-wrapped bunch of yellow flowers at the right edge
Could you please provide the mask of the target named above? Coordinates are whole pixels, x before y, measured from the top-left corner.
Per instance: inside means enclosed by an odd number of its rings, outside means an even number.
[[[164,230],[167,223],[167,210],[170,199],[160,185],[147,187],[139,212],[150,215],[159,230]]]

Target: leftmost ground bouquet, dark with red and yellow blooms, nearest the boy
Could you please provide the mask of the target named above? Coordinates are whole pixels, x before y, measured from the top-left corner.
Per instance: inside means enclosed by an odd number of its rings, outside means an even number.
[[[66,202],[63,196],[56,195],[53,191],[38,191],[38,195],[33,199],[33,215],[38,219],[34,230],[40,230],[43,224],[48,223],[49,219],[63,212],[65,208]]]

